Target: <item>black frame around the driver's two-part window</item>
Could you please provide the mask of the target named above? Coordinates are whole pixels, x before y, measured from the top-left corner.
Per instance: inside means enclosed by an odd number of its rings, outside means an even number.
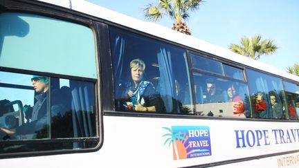
[[[57,153],[84,153],[84,152],[92,152],[98,151],[102,146],[103,142],[103,130],[102,130],[102,95],[100,94],[100,90],[102,88],[100,77],[98,76],[100,72],[100,59],[99,59],[99,47],[103,44],[100,43],[100,39],[102,38],[102,32],[96,29],[94,21],[102,22],[102,19],[98,19],[96,17],[92,17],[89,15],[84,15],[80,12],[75,12],[73,10],[68,10],[65,8],[61,8],[58,6],[53,6],[48,3],[43,3],[39,1],[5,1],[5,3],[0,4],[1,12],[20,12],[27,13],[32,15],[40,15],[44,17],[50,17],[54,19],[59,19],[62,21],[69,21],[74,24],[79,24],[82,26],[86,26],[91,29],[94,37],[94,45],[95,45],[95,55],[96,57],[96,73],[97,79],[92,79],[89,77],[77,77],[71,75],[61,75],[55,73],[44,73],[39,71],[29,71],[25,69],[19,68],[7,68],[0,66],[1,71],[7,71],[11,73],[22,73],[22,74],[30,74],[30,75],[44,75],[48,77],[57,77],[57,78],[65,78],[68,80],[80,80],[85,82],[93,82],[95,84],[95,113],[96,113],[96,136],[92,138],[57,138],[57,139],[41,139],[41,140],[11,140],[11,141],[1,141],[1,144],[53,144],[55,142],[96,142],[96,146],[92,148],[86,149],[63,149],[63,150],[50,150],[43,151],[42,149],[37,149],[37,151],[29,151],[29,152],[12,152],[12,153],[0,153],[0,158],[15,158],[15,157],[25,157],[25,156],[44,156],[44,155],[52,155]],[[105,33],[104,33],[105,34]]]

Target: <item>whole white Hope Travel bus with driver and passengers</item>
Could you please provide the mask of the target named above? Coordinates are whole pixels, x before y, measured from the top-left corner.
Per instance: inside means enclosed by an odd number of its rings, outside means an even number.
[[[1,167],[298,167],[299,77],[81,0],[0,1]]]

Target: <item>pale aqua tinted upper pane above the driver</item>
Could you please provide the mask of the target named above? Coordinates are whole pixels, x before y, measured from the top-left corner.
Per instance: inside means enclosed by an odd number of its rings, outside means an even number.
[[[0,66],[96,79],[90,28],[24,13],[1,13],[0,20]]]

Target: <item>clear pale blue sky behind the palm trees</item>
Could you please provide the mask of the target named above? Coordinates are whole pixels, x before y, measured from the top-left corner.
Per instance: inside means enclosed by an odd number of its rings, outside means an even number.
[[[143,8],[154,0],[88,0],[143,21]],[[165,16],[157,24],[172,28],[174,21]],[[229,48],[241,37],[262,35],[273,39],[278,50],[262,55],[260,62],[287,71],[299,63],[298,0],[204,0],[199,10],[191,11],[186,21],[192,36],[211,44]]]

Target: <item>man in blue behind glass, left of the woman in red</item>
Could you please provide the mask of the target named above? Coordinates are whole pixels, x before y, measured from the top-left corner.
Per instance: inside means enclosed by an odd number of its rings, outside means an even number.
[[[212,79],[206,80],[206,91],[208,95],[203,97],[204,103],[213,103],[213,102],[225,102],[224,97],[221,94],[221,91],[216,86],[216,83]]]

